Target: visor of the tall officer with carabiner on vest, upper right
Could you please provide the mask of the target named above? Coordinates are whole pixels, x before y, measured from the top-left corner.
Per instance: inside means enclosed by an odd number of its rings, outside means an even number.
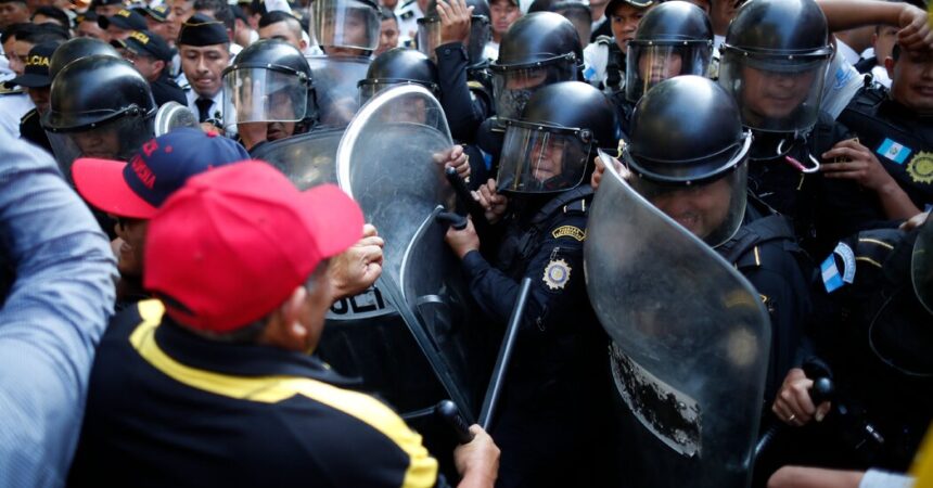
[[[819,116],[829,56],[757,56],[723,52],[719,85],[739,103],[742,123],[766,132],[801,132]]]

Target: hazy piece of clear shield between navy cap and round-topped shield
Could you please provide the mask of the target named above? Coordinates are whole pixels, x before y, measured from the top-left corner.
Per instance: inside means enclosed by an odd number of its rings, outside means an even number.
[[[325,127],[308,133],[261,144],[253,157],[279,168],[304,191],[321,183],[336,183],[337,145],[342,127]]]

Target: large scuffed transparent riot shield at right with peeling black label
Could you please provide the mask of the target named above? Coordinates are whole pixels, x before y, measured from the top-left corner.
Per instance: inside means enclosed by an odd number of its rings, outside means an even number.
[[[610,362],[632,486],[745,487],[770,324],[751,284],[609,165],[590,209],[587,290]]]

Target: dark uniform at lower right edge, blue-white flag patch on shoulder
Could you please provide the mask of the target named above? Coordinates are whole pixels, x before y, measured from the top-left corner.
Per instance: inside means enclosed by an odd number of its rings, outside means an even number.
[[[861,231],[820,264],[833,308],[814,333],[816,356],[829,363],[839,401],[884,438],[870,458],[849,457],[864,463],[852,467],[906,471],[933,422],[933,316],[910,272],[917,232]]]

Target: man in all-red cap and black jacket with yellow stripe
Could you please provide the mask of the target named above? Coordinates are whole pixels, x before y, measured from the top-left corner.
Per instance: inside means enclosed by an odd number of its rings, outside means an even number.
[[[149,226],[144,283],[161,301],[117,316],[98,350],[71,483],[435,486],[421,437],[307,355],[330,259],[362,224],[336,187],[299,192],[265,163],[189,179]],[[498,448],[471,432],[458,468],[491,486]]]

